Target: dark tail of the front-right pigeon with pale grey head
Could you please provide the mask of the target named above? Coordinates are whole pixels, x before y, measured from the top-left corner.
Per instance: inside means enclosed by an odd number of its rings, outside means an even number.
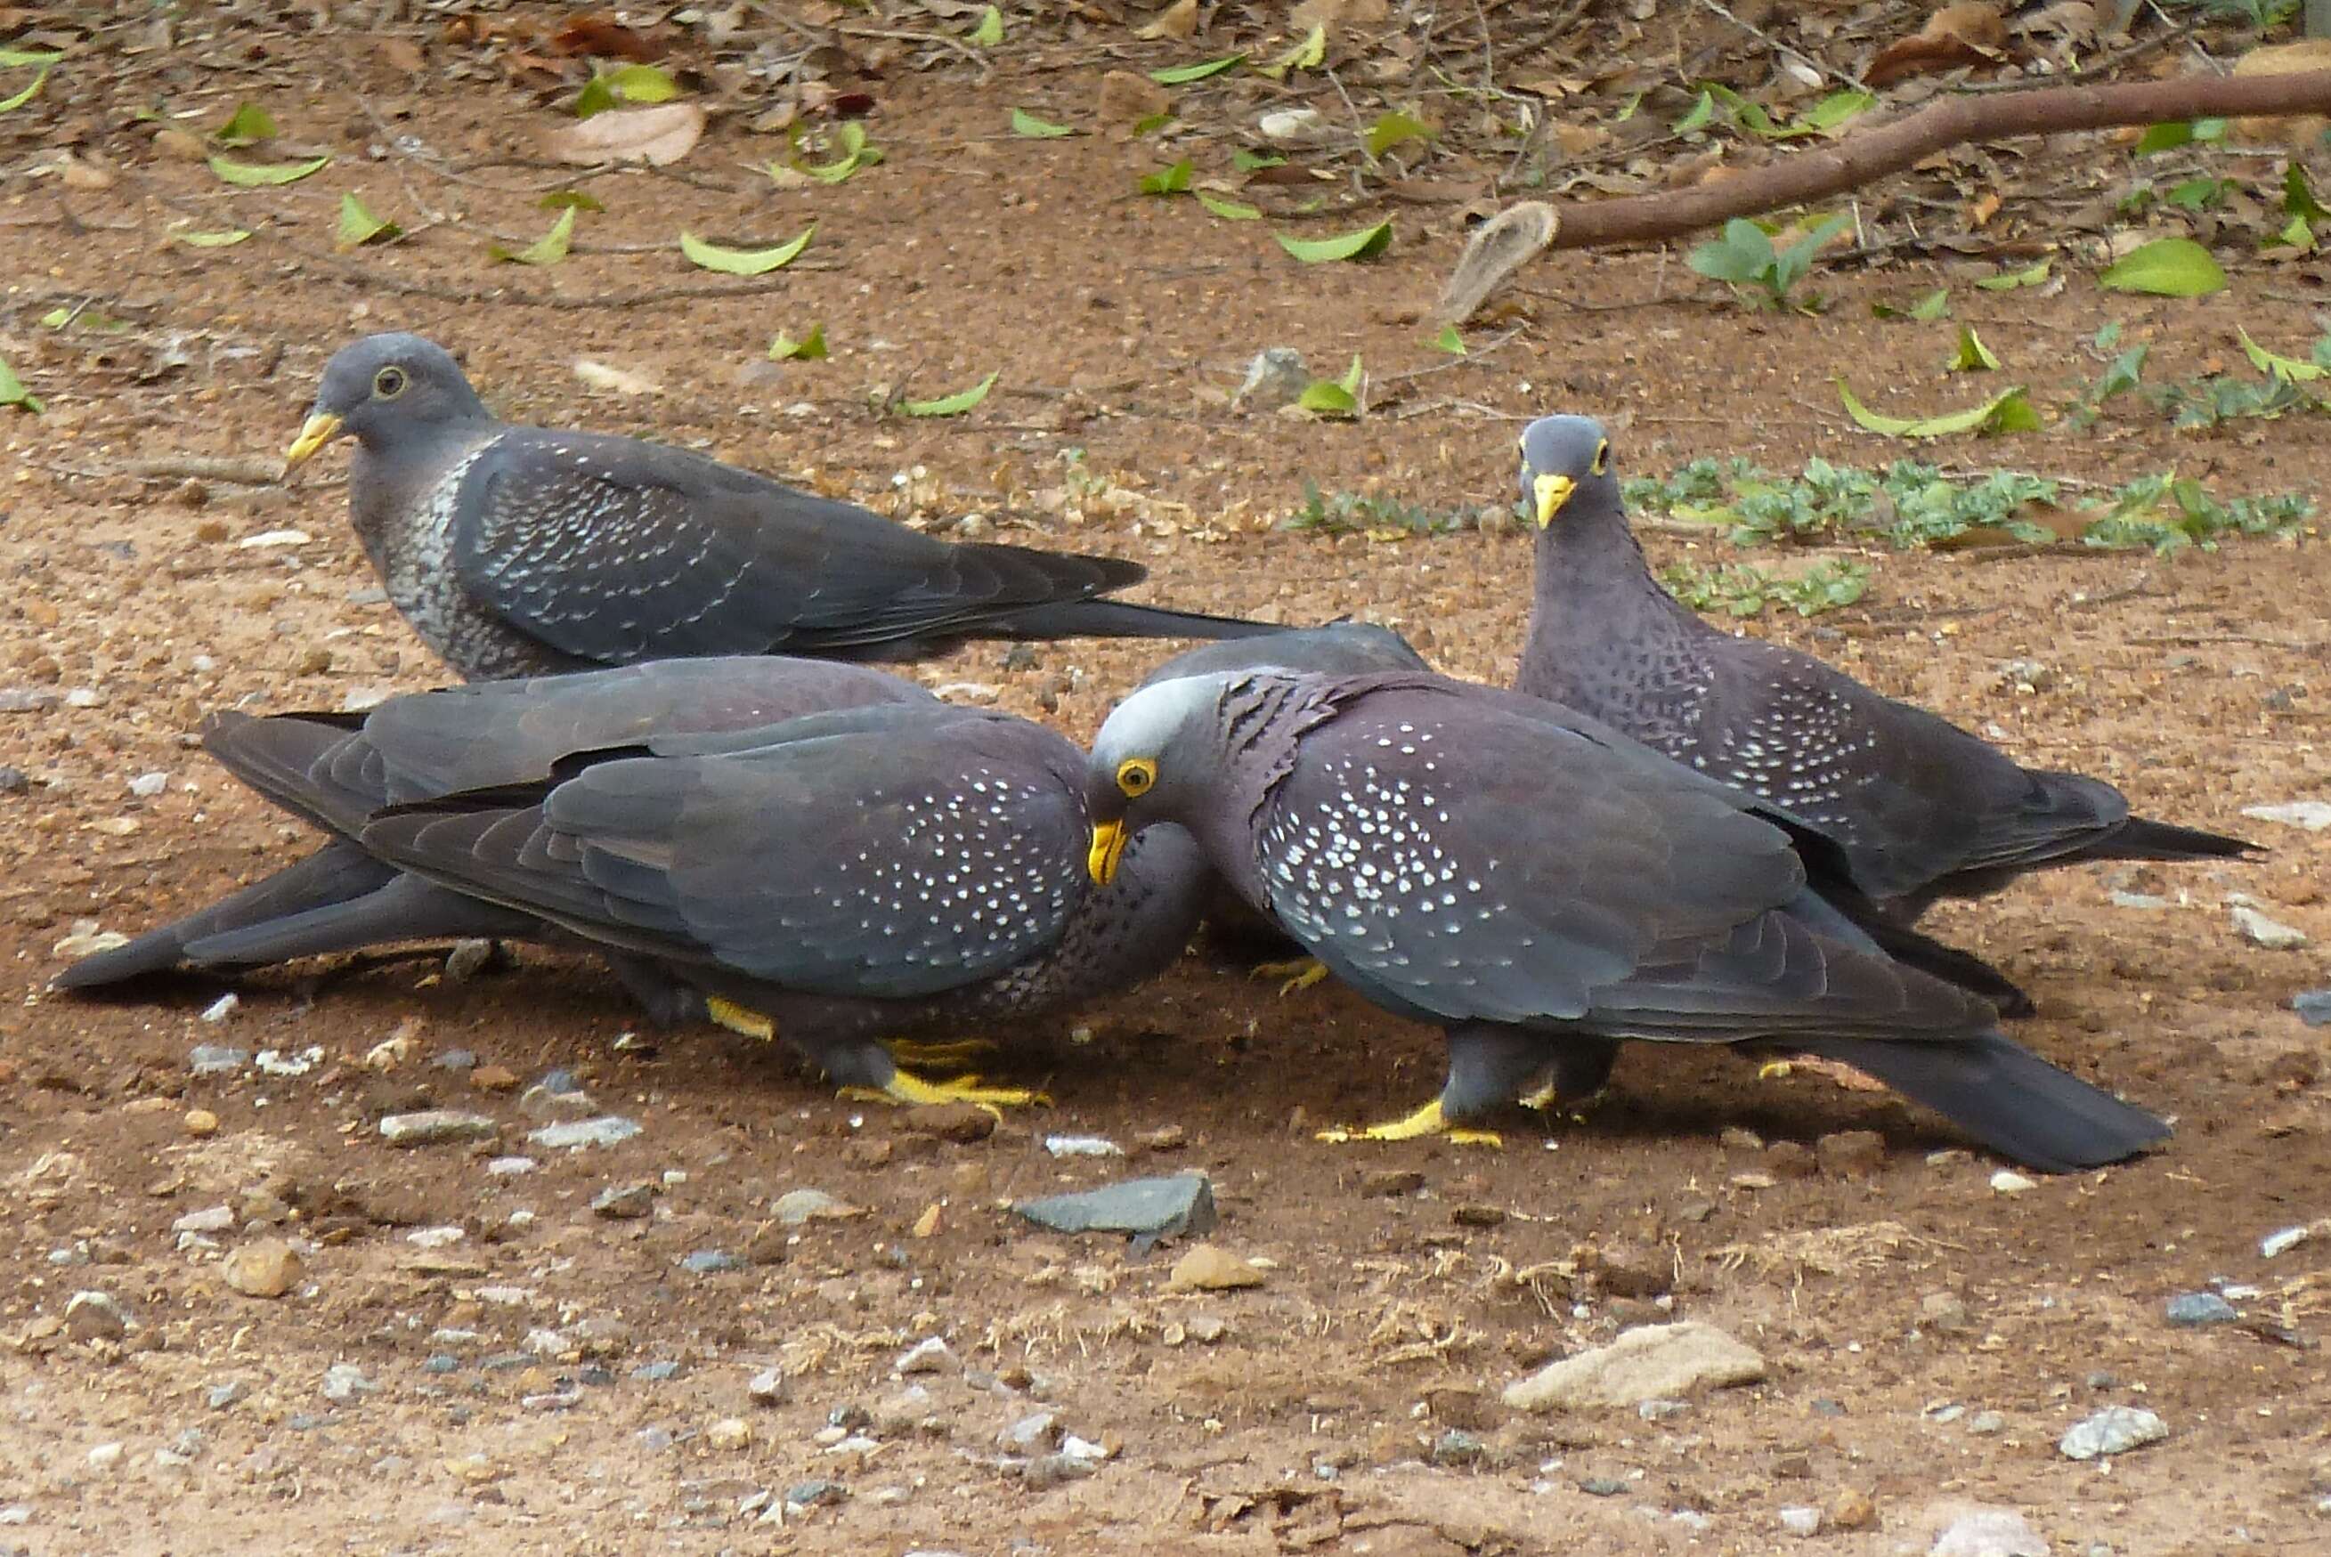
[[[1814,1040],[1793,1049],[1844,1061],[1923,1102],[2000,1156],[2042,1172],[2100,1168],[2165,1140],[2170,1126],[1998,1033],[1942,1042]]]

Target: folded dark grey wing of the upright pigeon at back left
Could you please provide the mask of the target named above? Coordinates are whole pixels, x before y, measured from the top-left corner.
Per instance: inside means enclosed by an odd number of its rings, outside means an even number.
[[[452,557],[485,608],[601,664],[946,636],[1145,576],[951,545],[688,450],[543,429],[471,459]]]

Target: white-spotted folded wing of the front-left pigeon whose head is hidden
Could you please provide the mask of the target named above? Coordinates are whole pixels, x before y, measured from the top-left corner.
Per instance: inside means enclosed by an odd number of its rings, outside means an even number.
[[[1082,762],[1002,716],[622,758],[541,806],[413,809],[385,858],[594,939],[807,993],[928,995],[1054,944],[1082,895]]]

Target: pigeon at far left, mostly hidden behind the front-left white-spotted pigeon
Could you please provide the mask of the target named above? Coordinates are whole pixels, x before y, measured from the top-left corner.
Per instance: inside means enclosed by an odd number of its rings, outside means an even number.
[[[331,841],[207,909],[82,958],[56,986],[98,988],[179,965],[224,972],[389,942],[543,939],[538,918],[408,876],[364,853],[357,832],[380,806],[543,778],[569,753],[897,702],[937,704],[911,681],[869,667],[737,657],[490,681],[396,697],[361,716],[219,713],[203,730],[210,755]],[[646,958],[608,960],[657,1021],[704,1014],[695,991]]]

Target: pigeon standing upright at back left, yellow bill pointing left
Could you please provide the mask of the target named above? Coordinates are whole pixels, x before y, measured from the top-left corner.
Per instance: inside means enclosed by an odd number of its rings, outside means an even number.
[[[1098,599],[1117,557],[949,543],[688,450],[497,422],[420,336],[326,366],[284,452],[354,434],[350,513],[389,601],[462,676],[690,655],[911,660],[958,639],[1231,639],[1263,622]]]

